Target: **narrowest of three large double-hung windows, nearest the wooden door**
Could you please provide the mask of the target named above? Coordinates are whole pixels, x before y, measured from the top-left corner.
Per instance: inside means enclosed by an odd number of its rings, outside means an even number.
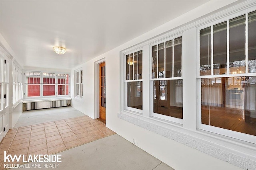
[[[126,106],[133,111],[142,110],[142,50],[126,54],[125,58]]]

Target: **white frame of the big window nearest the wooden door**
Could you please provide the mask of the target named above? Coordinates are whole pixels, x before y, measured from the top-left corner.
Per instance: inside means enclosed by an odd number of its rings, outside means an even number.
[[[132,50],[132,51],[128,51],[126,53],[124,53],[124,62],[123,62],[123,67],[124,67],[124,110],[126,111],[132,111],[133,113],[138,113],[140,115],[142,115],[142,111],[143,111],[143,86],[144,86],[144,83],[143,83],[143,73],[142,73],[142,79],[138,79],[137,80],[134,80],[134,74],[133,74],[133,80],[126,80],[126,55],[129,55],[130,57],[130,54],[133,54],[133,57],[134,57],[134,53],[136,52],[139,52],[139,51],[142,51],[142,59],[143,59],[143,49],[142,48],[139,48],[139,49],[136,49],[136,50]],[[137,55],[138,57],[139,55]],[[133,59],[134,61],[134,59]],[[138,61],[138,60],[137,60]],[[142,60],[142,63],[143,63],[143,60]],[[142,66],[142,69],[143,69],[143,66]],[[138,74],[138,70],[137,69],[137,74]],[[134,64],[133,64],[133,72],[134,72]],[[129,67],[129,74],[130,74],[130,67]],[[129,75],[129,79],[130,79],[130,75]],[[133,107],[128,107],[128,82],[142,82],[142,110],[141,109],[136,109],[136,108],[133,108]]]

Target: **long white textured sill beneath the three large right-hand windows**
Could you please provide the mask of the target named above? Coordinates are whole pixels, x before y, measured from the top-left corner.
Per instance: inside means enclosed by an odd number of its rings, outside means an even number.
[[[118,118],[238,167],[244,169],[256,167],[254,156],[256,155],[255,144],[249,144],[239,140],[234,141],[234,139],[223,137],[222,135],[210,134],[201,130],[192,131],[184,129],[180,124],[170,123],[169,121],[152,117],[143,117],[142,115],[135,115],[126,111],[118,113]],[[248,162],[248,164],[244,162]]]

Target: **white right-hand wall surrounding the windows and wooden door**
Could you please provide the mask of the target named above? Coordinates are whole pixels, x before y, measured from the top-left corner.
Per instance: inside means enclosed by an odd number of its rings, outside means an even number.
[[[226,5],[233,6],[240,2],[236,1],[221,1],[214,2],[210,1],[203,6],[200,6],[156,29],[153,29],[103,55],[96,57],[95,59],[88,61],[87,63],[81,64],[76,68],[72,69],[72,84],[74,84],[74,70],[78,68],[83,68],[84,74],[84,98],[82,102],[78,102],[74,100],[74,92],[72,92],[72,106],[82,113],[95,118],[95,72],[94,72],[94,63],[100,59],[106,59],[106,127],[115,131],[118,135],[121,135],[128,141],[132,142],[133,138],[136,138],[136,145],[146,152],[152,154],[156,158],[165,162],[166,164],[172,166],[176,170],[239,170],[238,166],[234,166],[229,164],[223,160],[214,158],[208,154],[200,152],[196,149],[192,149],[186,145],[153,133],[152,131],[148,131],[143,129],[142,127],[133,125],[118,118],[118,113],[120,113],[120,51],[127,49],[133,45],[151,39],[157,35],[163,34],[166,31],[170,31],[172,29],[176,29],[176,27],[184,26],[185,23],[191,23],[202,19],[200,17],[210,16],[213,11],[220,11],[225,8]],[[222,8],[222,9],[221,9]],[[193,29],[188,30],[188,37],[194,39],[196,35],[189,33],[189,31],[193,32]],[[192,48],[195,54],[196,45],[187,45],[188,48]],[[187,54],[189,56],[189,54]],[[191,58],[188,58],[185,63],[194,62],[195,55]],[[192,68],[192,69],[195,69]],[[186,68],[185,68],[186,70]],[[190,76],[189,73],[186,75]],[[190,79],[184,80],[184,84],[186,81],[191,81],[194,84],[192,87],[194,90],[186,91],[184,93],[191,94],[192,96],[196,96],[196,74],[192,73],[192,77]],[[72,85],[74,86],[74,85]],[[184,85],[185,86],[185,85]],[[188,87],[184,87],[188,89]],[[72,88],[73,89],[73,88]],[[144,89],[145,90],[145,89]],[[184,104],[190,102],[191,99],[184,99]],[[191,104],[192,113],[184,118],[184,121],[196,121],[196,101]],[[189,109],[184,110],[190,111]],[[188,124],[189,127],[184,127],[188,129],[196,129],[194,124]],[[191,125],[191,126],[190,126]],[[143,162],[142,162],[143,163]]]

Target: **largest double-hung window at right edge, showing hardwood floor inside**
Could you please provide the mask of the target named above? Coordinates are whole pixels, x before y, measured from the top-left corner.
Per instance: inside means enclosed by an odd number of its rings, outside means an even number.
[[[256,11],[200,29],[200,129],[256,136],[255,30]]]

